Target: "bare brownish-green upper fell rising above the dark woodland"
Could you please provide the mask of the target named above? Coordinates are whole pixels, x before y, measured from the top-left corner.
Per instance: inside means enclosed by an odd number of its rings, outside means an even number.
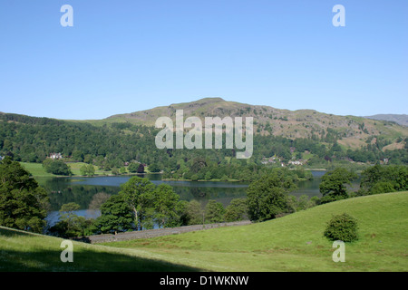
[[[332,136],[346,148],[358,149],[366,145],[367,140],[376,142],[374,136],[381,136],[387,145],[396,142],[398,138],[408,137],[408,128],[391,121],[374,121],[363,117],[337,116],[314,110],[288,111],[269,106],[250,105],[239,102],[228,102],[221,98],[205,98],[196,102],[183,102],[160,106],[146,111],[113,115],[102,121],[93,123],[131,122],[154,126],[155,121],[162,116],[175,121],[176,110],[183,110],[184,118],[197,116],[201,119],[207,116],[253,117],[254,131],[289,139],[315,138]]]

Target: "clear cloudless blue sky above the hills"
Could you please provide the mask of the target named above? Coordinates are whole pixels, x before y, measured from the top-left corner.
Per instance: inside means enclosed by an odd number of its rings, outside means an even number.
[[[0,111],[102,119],[221,97],[408,113],[407,14],[406,0],[1,0]]]

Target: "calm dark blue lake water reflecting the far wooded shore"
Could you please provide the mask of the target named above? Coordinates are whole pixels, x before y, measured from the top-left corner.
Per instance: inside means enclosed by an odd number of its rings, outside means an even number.
[[[318,196],[319,183],[325,171],[312,171],[314,179],[297,183],[298,189],[291,192],[291,195],[300,197],[306,194],[309,198]],[[232,198],[246,197],[246,182],[211,182],[211,181],[164,181],[160,174],[146,174],[141,177],[150,179],[152,183],[169,184],[180,199],[197,199],[205,205],[209,199],[221,202],[224,207],[228,206]],[[52,226],[58,221],[58,210],[68,202],[75,202],[81,206],[76,212],[77,215],[85,218],[97,218],[99,210],[89,209],[92,197],[98,192],[105,192],[109,195],[117,194],[122,183],[131,179],[131,176],[111,176],[92,178],[44,178],[37,179],[41,186],[48,192],[51,203],[51,212],[46,218]]]

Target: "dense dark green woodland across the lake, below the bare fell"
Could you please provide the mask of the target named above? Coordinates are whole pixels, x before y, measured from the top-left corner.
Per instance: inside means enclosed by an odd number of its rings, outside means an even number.
[[[134,125],[129,122],[92,125],[88,122],[59,121],[49,118],[28,117],[18,114],[0,114],[0,155],[11,155],[14,160],[43,162],[49,154],[58,152],[65,160],[83,161],[110,170],[121,168],[125,162],[147,164],[152,172],[163,170],[168,178],[206,179],[207,170],[196,170],[197,160],[205,160],[205,166],[236,167],[261,165],[262,160],[277,156],[279,162],[307,159],[309,167],[329,168],[335,162],[408,164],[406,139],[402,150],[386,150],[388,144],[381,136],[373,136],[376,143],[360,150],[346,150],[337,143],[341,138],[328,130],[322,138],[290,140],[280,136],[254,136],[254,154],[250,160],[235,159],[235,150],[159,150],[154,138],[159,129]],[[305,158],[307,155],[307,158]],[[280,163],[269,164],[280,166]],[[186,170],[185,168],[191,170]],[[242,171],[241,169],[239,169]],[[222,169],[219,172],[223,171]],[[225,170],[224,170],[225,171]],[[187,177],[186,177],[186,173]],[[213,179],[224,175],[235,179],[229,171],[211,171]],[[208,178],[208,176],[207,176]]]

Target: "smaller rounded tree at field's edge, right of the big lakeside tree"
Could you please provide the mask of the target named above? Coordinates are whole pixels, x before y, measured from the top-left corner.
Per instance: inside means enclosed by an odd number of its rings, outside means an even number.
[[[357,179],[357,175],[344,168],[327,171],[319,185],[320,192],[323,195],[320,202],[327,203],[348,198],[346,185],[351,185],[351,182],[355,179]]]

